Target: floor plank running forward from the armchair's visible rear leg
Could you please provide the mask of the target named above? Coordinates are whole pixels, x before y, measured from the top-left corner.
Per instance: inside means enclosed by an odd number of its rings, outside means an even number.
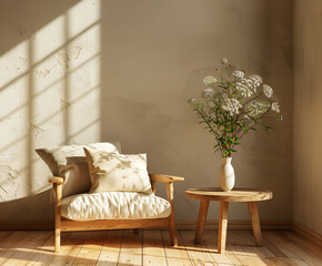
[[[142,231],[139,234],[133,234],[133,231],[123,232],[119,265],[142,265]]]

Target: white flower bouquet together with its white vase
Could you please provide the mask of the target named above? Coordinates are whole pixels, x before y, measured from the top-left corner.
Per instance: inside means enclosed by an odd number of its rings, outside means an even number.
[[[244,73],[229,64],[227,59],[222,59],[221,63],[215,76],[204,78],[207,89],[202,91],[201,99],[190,99],[189,103],[201,119],[200,124],[205,124],[205,129],[214,135],[213,147],[221,152],[223,158],[220,186],[230,191],[234,185],[231,157],[240,140],[249,131],[256,131],[258,125],[271,131],[269,120],[281,121],[282,116],[273,89],[264,84],[260,75]],[[221,175],[229,175],[231,182],[227,182],[230,184],[221,185]]]

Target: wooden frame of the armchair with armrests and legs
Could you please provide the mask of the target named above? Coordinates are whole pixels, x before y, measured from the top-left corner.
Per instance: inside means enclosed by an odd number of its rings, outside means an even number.
[[[168,201],[171,204],[171,214],[167,218],[144,218],[144,219],[95,219],[95,221],[72,221],[61,217],[60,201],[62,195],[63,177],[52,176],[52,190],[56,195],[56,218],[54,218],[54,252],[60,252],[61,232],[71,231],[99,231],[99,229],[138,229],[153,227],[169,227],[172,246],[178,246],[174,221],[173,183],[184,181],[183,177],[149,174],[153,193],[157,190],[157,182],[165,183]]]

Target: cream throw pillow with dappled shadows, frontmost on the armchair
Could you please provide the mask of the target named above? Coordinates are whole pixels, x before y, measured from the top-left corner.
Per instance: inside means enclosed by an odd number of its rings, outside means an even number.
[[[147,154],[120,154],[84,147],[92,187],[97,192],[142,192],[151,194]]]

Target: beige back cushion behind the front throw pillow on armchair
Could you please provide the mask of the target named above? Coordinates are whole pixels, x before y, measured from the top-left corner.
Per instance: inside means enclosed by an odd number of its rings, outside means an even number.
[[[120,143],[92,143],[38,149],[36,152],[46,162],[53,175],[64,177],[62,197],[89,192],[91,181],[83,147],[104,152],[120,152]]]

